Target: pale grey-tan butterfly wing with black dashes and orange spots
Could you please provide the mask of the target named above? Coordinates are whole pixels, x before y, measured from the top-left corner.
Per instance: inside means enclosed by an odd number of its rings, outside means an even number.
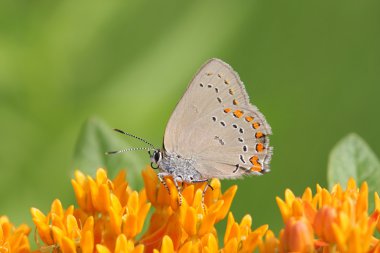
[[[269,169],[271,128],[243,83],[219,59],[190,82],[165,130],[165,152],[196,161],[206,178],[236,178]]]

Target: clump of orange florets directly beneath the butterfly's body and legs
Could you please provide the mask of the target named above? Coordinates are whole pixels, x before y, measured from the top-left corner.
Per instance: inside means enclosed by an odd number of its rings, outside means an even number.
[[[144,170],[143,178],[148,199],[156,208],[148,232],[141,240],[141,243],[147,245],[148,251],[158,248],[164,235],[169,235],[175,250],[179,250],[188,241],[198,243],[204,236],[215,236],[214,224],[226,216],[237,189],[233,186],[222,194],[220,182],[212,180],[210,184],[214,190],[209,188],[206,192],[203,207],[202,192],[205,184],[184,184],[182,205],[179,206],[178,192],[171,178],[167,179],[170,194],[158,182],[152,169]]]

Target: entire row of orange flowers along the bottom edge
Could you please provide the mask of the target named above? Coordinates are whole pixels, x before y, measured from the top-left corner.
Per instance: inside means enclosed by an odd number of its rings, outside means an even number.
[[[143,171],[145,188],[132,190],[120,171],[110,180],[103,169],[96,177],[75,172],[72,185],[78,207],[63,208],[53,201],[50,212],[31,209],[36,225],[38,251],[63,253],[248,253],[347,252],[380,253],[380,198],[368,213],[368,186],[360,188],[350,179],[345,190],[338,184],[331,192],[317,185],[313,195],[307,188],[301,197],[290,190],[277,198],[284,221],[278,237],[267,225],[252,230],[252,218],[236,222],[229,212],[237,186],[224,193],[219,180],[212,180],[202,201],[205,183],[184,184],[182,204],[172,179],[167,189],[156,173]],[[153,205],[150,222],[144,229]],[[153,209],[153,208],[152,208]],[[218,242],[215,224],[227,218],[223,243]],[[0,253],[29,253],[26,225],[15,228],[0,217]],[[223,247],[220,245],[223,244]]]

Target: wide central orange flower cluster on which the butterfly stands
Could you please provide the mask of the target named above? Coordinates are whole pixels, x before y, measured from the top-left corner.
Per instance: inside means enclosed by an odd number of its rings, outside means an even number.
[[[45,215],[31,209],[38,235],[44,245],[40,251],[53,252],[252,252],[262,241],[267,226],[251,230],[251,217],[240,223],[228,215],[220,249],[215,224],[229,211],[237,186],[224,194],[219,180],[212,180],[202,203],[205,184],[183,185],[182,204],[168,178],[170,194],[159,183],[156,173],[143,171],[145,189],[136,192],[125,181],[121,171],[114,180],[99,169],[96,178],[77,171],[72,180],[78,208],[64,209],[55,200]],[[147,231],[141,235],[151,204],[155,210]],[[139,238],[139,239],[138,239]]]

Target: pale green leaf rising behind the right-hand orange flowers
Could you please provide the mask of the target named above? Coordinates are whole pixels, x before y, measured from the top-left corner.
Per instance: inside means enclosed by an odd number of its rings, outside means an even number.
[[[354,133],[339,141],[330,153],[327,170],[329,188],[336,183],[345,186],[350,177],[358,185],[367,181],[369,203],[373,207],[374,192],[380,190],[380,162],[368,144]]]

